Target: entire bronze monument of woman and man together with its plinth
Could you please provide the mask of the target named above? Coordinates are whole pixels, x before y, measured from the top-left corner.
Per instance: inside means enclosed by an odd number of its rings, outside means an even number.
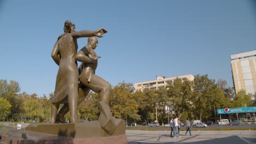
[[[50,122],[30,124],[25,130],[37,133],[65,136],[74,142],[102,141],[103,143],[127,143],[125,121],[112,116],[109,107],[111,85],[95,74],[98,58],[95,49],[97,37],[101,38],[106,29],[96,31],[75,31],[70,20],[65,21],[64,33],[57,38],[51,57],[59,66],[56,76],[54,97],[51,105]],[[78,50],[77,39],[88,37],[88,44]],[[78,68],[77,61],[82,62]],[[100,116],[97,121],[79,122],[78,105],[90,90],[100,95],[97,103]],[[63,104],[59,110],[60,104]],[[64,116],[70,111],[70,123]]]

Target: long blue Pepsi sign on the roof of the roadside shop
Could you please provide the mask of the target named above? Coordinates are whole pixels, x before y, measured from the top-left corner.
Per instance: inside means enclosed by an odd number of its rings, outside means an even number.
[[[256,106],[218,109],[218,114],[256,112]]]

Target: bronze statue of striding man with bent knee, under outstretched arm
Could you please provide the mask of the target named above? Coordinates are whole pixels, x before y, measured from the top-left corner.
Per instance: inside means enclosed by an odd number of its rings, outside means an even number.
[[[103,80],[100,76],[95,75],[98,61],[100,56],[97,56],[94,51],[98,45],[97,37],[89,37],[88,44],[84,46],[80,51],[78,51],[75,56],[75,60],[82,62],[79,69],[82,72],[79,75],[80,83],[90,88],[92,91],[100,94],[100,101],[98,102],[98,107],[100,109],[100,117],[98,122],[100,122],[101,127],[107,131],[107,133],[112,134],[117,124],[115,124],[114,117],[109,109],[109,94],[111,91],[111,85]],[[85,92],[85,91],[84,91]]]

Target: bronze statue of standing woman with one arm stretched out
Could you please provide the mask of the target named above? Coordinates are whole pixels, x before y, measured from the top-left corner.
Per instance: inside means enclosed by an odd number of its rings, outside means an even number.
[[[51,57],[55,63],[59,65],[59,71],[56,77],[55,92],[51,106],[50,123],[56,121],[65,122],[65,114],[70,110],[70,122],[77,123],[77,107],[79,101],[78,94],[78,68],[75,56],[77,55],[77,39],[83,37],[102,37],[102,34],[107,33],[103,28],[97,31],[78,31],[75,32],[75,25],[67,20],[63,28],[64,32],[57,39]],[[89,91],[88,91],[89,92]],[[57,115],[60,104],[64,104]]]

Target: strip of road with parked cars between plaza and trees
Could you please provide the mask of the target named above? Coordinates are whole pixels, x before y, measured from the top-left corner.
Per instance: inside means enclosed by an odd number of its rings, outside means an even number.
[[[126,127],[127,130],[146,130],[146,125]],[[191,127],[191,130],[256,130],[256,124],[243,124],[243,125],[208,125],[207,128]],[[165,127],[147,127],[147,130],[170,130]],[[185,127],[181,127],[181,131],[185,130]]]

